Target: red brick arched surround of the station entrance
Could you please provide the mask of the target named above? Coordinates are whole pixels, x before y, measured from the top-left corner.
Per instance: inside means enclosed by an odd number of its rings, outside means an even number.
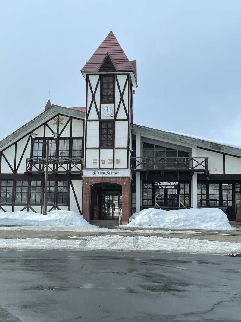
[[[86,184],[87,182],[87,184]],[[91,186],[97,183],[113,183],[122,186],[122,223],[128,223],[131,216],[131,180],[130,178],[85,177],[83,178],[83,217],[90,222],[91,217]],[[124,182],[126,184],[124,184]],[[94,197],[94,196],[93,196]],[[92,198],[93,198],[92,197]]]

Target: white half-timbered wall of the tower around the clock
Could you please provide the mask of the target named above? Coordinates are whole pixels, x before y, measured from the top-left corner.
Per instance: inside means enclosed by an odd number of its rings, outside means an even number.
[[[113,102],[101,102],[103,74],[86,77],[85,168],[129,168],[132,84],[129,74],[105,73],[105,75],[108,74],[114,76]],[[112,108],[112,115],[103,115],[105,106]],[[108,120],[113,121],[113,145],[102,147],[101,124]]]

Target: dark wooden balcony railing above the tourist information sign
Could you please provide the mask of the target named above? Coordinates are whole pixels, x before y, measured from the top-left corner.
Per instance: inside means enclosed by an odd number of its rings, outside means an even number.
[[[208,157],[191,156],[191,157],[146,157],[132,156],[132,170],[192,170],[207,171]]]

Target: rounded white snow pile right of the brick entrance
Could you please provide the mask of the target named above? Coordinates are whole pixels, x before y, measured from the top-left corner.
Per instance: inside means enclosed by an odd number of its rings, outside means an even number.
[[[148,208],[133,213],[129,227],[235,230],[226,214],[219,208],[162,210]]]

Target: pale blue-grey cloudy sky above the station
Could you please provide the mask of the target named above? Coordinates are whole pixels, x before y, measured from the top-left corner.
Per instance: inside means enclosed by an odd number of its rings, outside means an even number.
[[[134,123],[241,137],[241,1],[4,1],[0,137],[53,104],[85,106],[80,69],[113,31],[137,60]]]

